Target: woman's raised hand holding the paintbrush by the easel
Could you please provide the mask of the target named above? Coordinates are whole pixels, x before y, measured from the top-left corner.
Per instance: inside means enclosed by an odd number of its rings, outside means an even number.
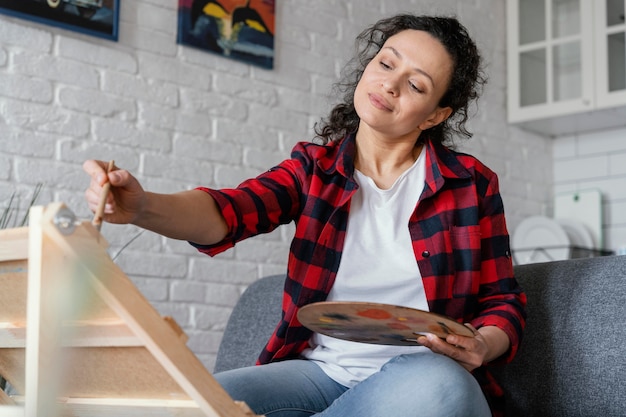
[[[109,223],[133,223],[145,205],[146,193],[137,179],[128,171],[113,167],[107,174],[107,162],[88,160],[83,170],[91,177],[85,199],[92,212],[96,212],[104,184],[111,183],[104,206],[103,220]]]

